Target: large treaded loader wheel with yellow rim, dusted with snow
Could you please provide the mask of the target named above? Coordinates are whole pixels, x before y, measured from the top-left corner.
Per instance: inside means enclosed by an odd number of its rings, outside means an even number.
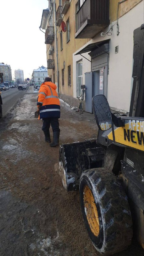
[[[118,179],[104,168],[82,173],[80,202],[88,234],[96,250],[114,254],[131,244],[132,216]]]

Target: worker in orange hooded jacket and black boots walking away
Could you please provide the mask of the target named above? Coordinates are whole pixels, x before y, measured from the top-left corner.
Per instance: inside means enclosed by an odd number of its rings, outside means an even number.
[[[42,130],[45,135],[45,141],[51,142],[50,137],[50,125],[53,131],[53,142],[50,143],[51,147],[56,147],[59,145],[60,128],[59,128],[59,118],[60,118],[60,100],[56,92],[57,86],[52,83],[50,77],[45,77],[44,83],[41,84],[38,98],[37,98],[37,108],[39,112],[39,119],[43,119]]]

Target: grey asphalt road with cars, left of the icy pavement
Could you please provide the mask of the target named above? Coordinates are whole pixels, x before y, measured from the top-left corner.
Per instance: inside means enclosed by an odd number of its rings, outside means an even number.
[[[2,91],[2,110],[3,117],[7,112],[16,105],[17,101],[26,93],[27,90],[18,90],[18,88],[9,88],[9,90]]]

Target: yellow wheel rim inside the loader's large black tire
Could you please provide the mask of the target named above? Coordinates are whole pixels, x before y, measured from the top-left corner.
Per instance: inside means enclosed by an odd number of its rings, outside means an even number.
[[[97,207],[92,195],[92,191],[88,186],[84,187],[84,209],[85,215],[91,228],[92,233],[98,236],[100,233],[99,217]]]

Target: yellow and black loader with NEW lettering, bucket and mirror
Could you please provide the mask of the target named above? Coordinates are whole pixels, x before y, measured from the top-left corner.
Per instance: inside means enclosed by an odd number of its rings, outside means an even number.
[[[131,244],[133,230],[144,247],[143,25],[134,31],[130,115],[114,115],[104,95],[92,99],[96,140],[62,144],[63,186],[80,192],[86,229],[96,250],[114,254]]]

